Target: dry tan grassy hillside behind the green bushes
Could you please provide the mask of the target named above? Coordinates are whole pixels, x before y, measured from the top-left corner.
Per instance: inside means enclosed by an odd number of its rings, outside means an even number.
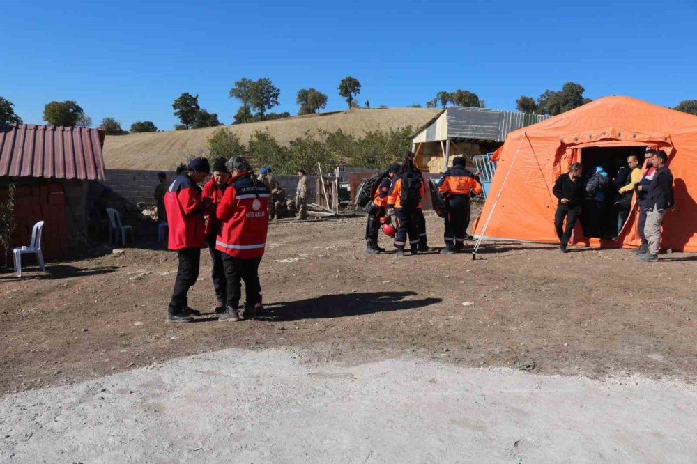
[[[353,108],[325,114],[229,125],[244,144],[257,130],[268,131],[279,144],[288,144],[308,130],[335,132],[343,130],[360,136],[370,131],[388,131],[411,125],[414,129],[429,122],[442,110],[436,108]],[[104,161],[107,169],[171,169],[189,155],[206,156],[208,138],[218,127],[146,132],[107,136]]]

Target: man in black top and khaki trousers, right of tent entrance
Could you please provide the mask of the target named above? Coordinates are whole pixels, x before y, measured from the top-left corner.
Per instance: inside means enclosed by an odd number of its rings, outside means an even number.
[[[673,173],[666,166],[666,162],[668,162],[668,155],[664,150],[654,153],[652,164],[656,168],[656,173],[651,181],[645,201],[646,225],[644,226],[644,235],[648,240],[648,252],[640,254],[639,261],[658,261],[663,217],[668,209],[675,211]]]

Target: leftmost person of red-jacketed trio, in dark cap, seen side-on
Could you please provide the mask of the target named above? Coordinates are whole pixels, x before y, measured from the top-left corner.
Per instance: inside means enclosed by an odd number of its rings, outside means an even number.
[[[174,279],[174,292],[167,309],[168,323],[191,322],[191,316],[201,313],[188,306],[189,288],[199,278],[201,248],[204,247],[204,212],[210,206],[210,199],[201,197],[197,185],[208,177],[210,164],[206,158],[194,158],[187,170],[178,176],[164,194],[164,207],[169,221],[169,243],[176,250],[179,266]]]

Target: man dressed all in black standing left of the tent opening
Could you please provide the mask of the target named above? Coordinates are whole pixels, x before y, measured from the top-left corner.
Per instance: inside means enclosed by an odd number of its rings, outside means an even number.
[[[569,172],[559,176],[552,188],[557,197],[557,212],[554,215],[554,227],[559,237],[559,249],[566,253],[574,224],[581,215],[581,202],[583,201],[583,182],[581,181],[581,163],[574,163],[569,167]],[[566,219],[566,226],[564,226]]]

